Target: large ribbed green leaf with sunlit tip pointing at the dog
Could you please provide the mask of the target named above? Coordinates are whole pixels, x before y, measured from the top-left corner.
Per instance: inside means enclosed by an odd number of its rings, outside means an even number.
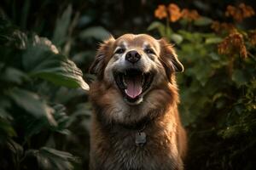
[[[83,88],[89,86],[83,80],[83,73],[62,54],[53,53],[49,40],[39,38],[36,44],[30,45],[22,56],[22,62],[31,77],[40,77],[57,85],[69,88]],[[55,49],[53,49],[55,50]]]

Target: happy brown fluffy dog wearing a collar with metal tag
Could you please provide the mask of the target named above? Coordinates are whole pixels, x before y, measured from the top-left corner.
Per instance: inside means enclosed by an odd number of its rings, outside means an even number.
[[[172,45],[147,34],[102,42],[90,73],[90,170],[181,170],[187,148],[178,116]]]

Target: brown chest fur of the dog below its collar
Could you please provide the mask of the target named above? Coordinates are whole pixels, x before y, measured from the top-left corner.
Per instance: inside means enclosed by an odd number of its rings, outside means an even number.
[[[102,129],[100,122],[93,119],[90,157],[91,169],[106,170],[170,170],[182,169],[181,160],[177,160],[176,125],[169,123],[167,127],[151,123],[143,131],[147,142],[137,146],[135,139],[137,130],[113,126]],[[166,126],[166,122],[162,125]]]

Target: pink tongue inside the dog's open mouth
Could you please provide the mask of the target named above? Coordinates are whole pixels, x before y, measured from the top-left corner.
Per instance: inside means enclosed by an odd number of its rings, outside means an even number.
[[[130,98],[134,99],[138,95],[142,94],[143,88],[140,77],[126,78],[126,84],[127,89],[125,89],[125,94],[127,94]]]

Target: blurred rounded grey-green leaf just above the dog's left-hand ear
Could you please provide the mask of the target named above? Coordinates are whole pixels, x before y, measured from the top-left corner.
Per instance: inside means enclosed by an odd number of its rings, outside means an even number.
[[[109,31],[107,31],[102,26],[92,26],[90,28],[85,29],[84,31],[81,31],[79,34],[79,37],[81,39],[86,38],[95,38],[96,40],[104,40],[110,37],[111,34]]]

